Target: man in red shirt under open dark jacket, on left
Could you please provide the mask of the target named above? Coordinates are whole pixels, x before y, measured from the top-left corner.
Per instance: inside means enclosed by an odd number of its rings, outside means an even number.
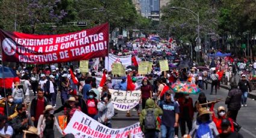
[[[47,104],[47,98],[43,96],[43,89],[38,89],[37,97],[31,101],[30,107],[31,120],[34,122],[34,126],[37,126],[39,116],[43,114]]]

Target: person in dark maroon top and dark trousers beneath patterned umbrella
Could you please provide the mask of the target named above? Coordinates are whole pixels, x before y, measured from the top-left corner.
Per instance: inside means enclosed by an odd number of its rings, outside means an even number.
[[[184,94],[183,97],[178,98],[178,103],[180,104],[181,136],[184,136],[186,134],[186,122],[189,132],[192,130],[194,116],[193,100],[189,97],[189,94]]]

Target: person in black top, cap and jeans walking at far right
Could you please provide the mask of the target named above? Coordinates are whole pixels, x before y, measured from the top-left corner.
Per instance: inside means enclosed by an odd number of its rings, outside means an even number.
[[[252,91],[251,85],[249,84],[249,81],[246,80],[245,74],[242,75],[242,80],[239,81],[238,83],[239,89],[242,91],[242,101],[241,101],[241,106],[247,106],[246,101],[247,101],[247,96],[248,96],[248,89],[249,92]]]

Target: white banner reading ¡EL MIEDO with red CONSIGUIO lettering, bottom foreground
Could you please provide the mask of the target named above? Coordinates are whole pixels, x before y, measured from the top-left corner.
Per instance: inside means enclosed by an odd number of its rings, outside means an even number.
[[[76,111],[73,114],[73,117],[70,119],[69,124],[67,124],[64,133],[72,133],[76,138],[122,138],[128,137],[129,133],[131,137],[143,137],[139,122],[125,128],[113,129],[106,127],[81,111]]]

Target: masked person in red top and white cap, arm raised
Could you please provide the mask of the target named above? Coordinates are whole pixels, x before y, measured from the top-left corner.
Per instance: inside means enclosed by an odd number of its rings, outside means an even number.
[[[217,130],[219,131],[219,134],[222,133],[222,127],[221,127],[221,124],[222,124],[222,120],[223,119],[228,119],[231,123],[231,131],[234,132],[234,123],[233,123],[233,119],[231,118],[228,118],[226,116],[226,109],[225,107],[223,106],[219,106],[217,108],[217,116],[215,115],[213,109],[214,109],[214,104],[215,103],[212,103],[211,104],[211,108],[210,108],[210,111],[213,112],[212,114],[212,119],[213,119],[213,122],[216,124],[216,127],[217,127]]]

